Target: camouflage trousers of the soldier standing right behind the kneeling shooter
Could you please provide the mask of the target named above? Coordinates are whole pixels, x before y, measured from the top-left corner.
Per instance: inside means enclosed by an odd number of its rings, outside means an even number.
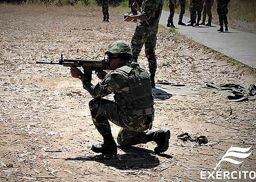
[[[150,73],[155,73],[157,71],[157,58],[155,56],[157,32],[158,27],[156,29],[150,29],[138,24],[135,32],[132,35],[132,61],[137,62],[138,56],[144,44]]]

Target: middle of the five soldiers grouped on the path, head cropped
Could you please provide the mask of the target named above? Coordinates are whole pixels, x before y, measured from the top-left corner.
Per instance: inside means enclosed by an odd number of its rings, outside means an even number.
[[[191,23],[188,26],[199,26],[199,22],[201,20],[203,5],[205,0],[190,0],[189,7],[191,7],[190,20]],[[197,19],[196,19],[197,15]]]

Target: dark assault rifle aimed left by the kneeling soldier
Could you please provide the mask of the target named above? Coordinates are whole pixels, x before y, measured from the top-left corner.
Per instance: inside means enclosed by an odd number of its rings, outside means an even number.
[[[93,71],[99,72],[102,70],[111,70],[105,59],[99,60],[84,60],[84,59],[63,59],[63,54],[59,62],[35,62],[36,64],[60,64],[65,67],[82,67],[84,75],[91,81],[91,74]]]

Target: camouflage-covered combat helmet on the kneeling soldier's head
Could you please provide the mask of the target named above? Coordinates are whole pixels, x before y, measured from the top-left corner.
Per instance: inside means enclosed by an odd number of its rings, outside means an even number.
[[[111,55],[126,54],[127,56],[132,56],[132,48],[127,41],[116,40],[109,44],[105,54],[111,54]]]

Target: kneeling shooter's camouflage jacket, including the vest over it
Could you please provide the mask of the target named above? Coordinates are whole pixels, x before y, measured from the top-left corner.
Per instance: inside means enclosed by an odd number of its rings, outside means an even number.
[[[138,63],[121,62],[95,86],[83,83],[93,98],[101,98],[114,93],[114,100],[124,113],[132,114],[141,109],[153,108],[150,76]]]

